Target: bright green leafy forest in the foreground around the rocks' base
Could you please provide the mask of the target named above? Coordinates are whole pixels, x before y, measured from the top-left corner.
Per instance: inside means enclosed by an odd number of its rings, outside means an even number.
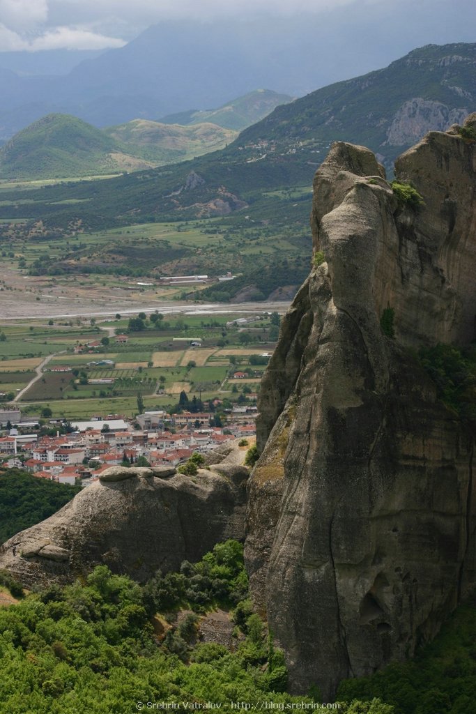
[[[231,618],[231,647],[201,641],[201,619],[216,608]],[[342,683],[338,710],[473,714],[475,641],[476,609],[460,608],[414,661]],[[331,707],[321,705],[317,687],[297,697],[286,687],[283,653],[253,613],[235,540],[143,586],[100,565],[73,585],[29,593],[0,610],[1,712],[128,714],[151,709],[148,703]]]

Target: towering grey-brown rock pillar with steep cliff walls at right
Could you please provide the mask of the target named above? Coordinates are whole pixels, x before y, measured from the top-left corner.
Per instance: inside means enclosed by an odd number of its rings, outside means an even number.
[[[245,542],[295,691],[326,700],[412,655],[476,582],[474,435],[408,350],[475,336],[475,169],[474,141],[429,134],[396,166],[419,211],[363,147],[334,144],[316,174],[325,262],[263,378]]]

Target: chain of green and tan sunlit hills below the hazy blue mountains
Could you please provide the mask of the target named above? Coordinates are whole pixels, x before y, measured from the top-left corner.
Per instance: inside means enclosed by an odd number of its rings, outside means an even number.
[[[71,115],[48,114],[0,148],[0,177],[115,174],[193,159],[222,149],[236,139],[239,129],[290,100],[284,94],[258,90],[219,109],[187,112],[183,123],[188,126],[134,119],[97,129]]]

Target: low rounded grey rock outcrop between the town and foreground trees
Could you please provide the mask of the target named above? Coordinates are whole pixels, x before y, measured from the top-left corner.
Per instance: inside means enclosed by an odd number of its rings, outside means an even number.
[[[143,581],[199,560],[221,540],[242,540],[248,469],[234,456],[196,477],[110,468],[54,516],[4,543],[0,569],[27,587],[68,583],[99,563]]]

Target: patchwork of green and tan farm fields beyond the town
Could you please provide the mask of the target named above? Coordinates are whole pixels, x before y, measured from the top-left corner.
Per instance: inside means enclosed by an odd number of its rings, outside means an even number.
[[[251,323],[246,325],[246,340],[251,342],[246,345],[243,328],[227,326],[226,315],[153,320],[143,316],[138,330],[136,319],[132,316],[129,322],[117,316],[61,325],[0,322],[1,399],[5,402],[6,395],[11,398],[26,388],[16,402],[22,413],[39,417],[48,408],[54,417],[69,419],[108,413],[131,416],[137,413],[139,399],[143,408],[170,409],[181,392],[189,400],[218,397],[233,403],[245,401],[247,393],[259,388],[264,364],[256,364],[254,358],[273,351],[268,333],[275,328],[269,316],[260,318],[254,333]],[[116,333],[126,334],[127,341],[116,342]],[[191,346],[196,340],[201,347]],[[26,348],[31,349],[29,356]],[[39,365],[37,378],[34,370]],[[246,378],[233,380],[238,370],[246,371]]]

